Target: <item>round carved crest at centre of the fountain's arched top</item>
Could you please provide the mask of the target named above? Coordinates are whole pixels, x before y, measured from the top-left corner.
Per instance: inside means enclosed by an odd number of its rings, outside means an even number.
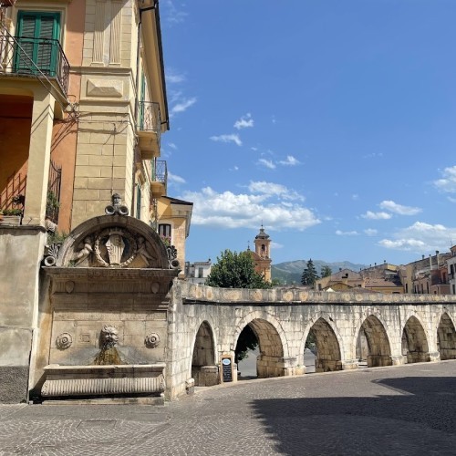
[[[134,237],[121,228],[109,228],[99,233],[95,240],[95,256],[104,267],[128,266],[137,254]]]

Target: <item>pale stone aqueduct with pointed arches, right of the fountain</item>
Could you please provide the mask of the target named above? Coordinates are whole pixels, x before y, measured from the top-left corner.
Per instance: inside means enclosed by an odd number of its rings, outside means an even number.
[[[177,293],[176,293],[177,292]],[[456,296],[381,295],[218,289],[181,284],[174,289],[182,374],[232,354],[244,327],[259,342],[259,378],[303,372],[306,338],[314,334],[316,371],[358,368],[358,335],[367,339],[368,366],[392,366],[456,358]],[[172,329],[170,327],[172,332]]]

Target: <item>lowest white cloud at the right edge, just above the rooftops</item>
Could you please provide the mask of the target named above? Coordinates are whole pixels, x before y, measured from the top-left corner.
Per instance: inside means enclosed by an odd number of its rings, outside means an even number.
[[[456,228],[439,223],[415,222],[394,233],[392,239],[382,239],[378,244],[393,250],[405,250],[417,254],[432,253],[435,250],[447,252],[451,240],[456,239]]]

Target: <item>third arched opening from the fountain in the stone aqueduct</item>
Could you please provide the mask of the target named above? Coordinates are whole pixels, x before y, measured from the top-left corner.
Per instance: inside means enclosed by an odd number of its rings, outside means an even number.
[[[342,369],[336,334],[323,318],[318,318],[310,328],[305,347],[306,373]]]

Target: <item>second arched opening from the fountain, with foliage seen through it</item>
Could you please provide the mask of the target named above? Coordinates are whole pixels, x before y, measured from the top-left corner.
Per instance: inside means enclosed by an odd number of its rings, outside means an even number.
[[[258,344],[257,350],[259,352],[259,355],[256,357],[256,377],[268,378],[284,376],[284,347],[282,347],[282,340],[275,327],[262,319],[254,319],[247,326],[244,327],[236,341],[236,358],[239,358],[239,354],[243,351],[243,348],[246,347],[246,338],[252,342],[250,347],[254,346],[254,340],[256,339]],[[247,355],[249,354],[251,356],[252,354],[255,354],[254,349],[249,348]],[[243,359],[241,359],[241,361],[242,360]],[[242,369],[244,367],[238,366],[238,368]],[[242,370],[241,373],[243,373]]]

